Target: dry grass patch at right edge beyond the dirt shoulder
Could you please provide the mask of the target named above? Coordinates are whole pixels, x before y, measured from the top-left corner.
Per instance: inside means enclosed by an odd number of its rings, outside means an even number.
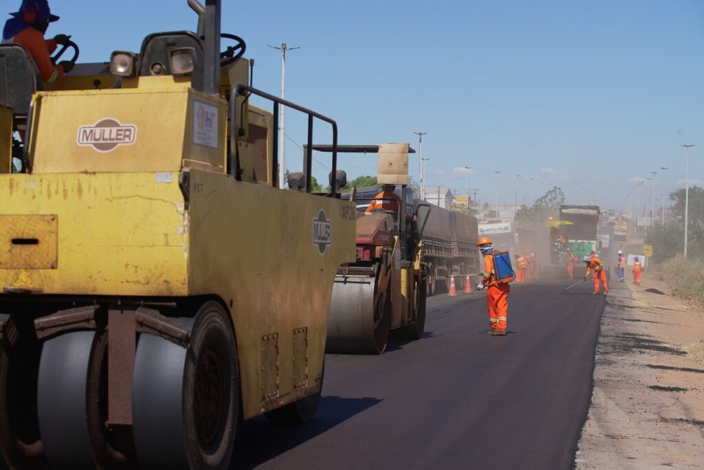
[[[672,287],[672,293],[704,305],[704,262],[677,255],[650,267],[655,277]]]

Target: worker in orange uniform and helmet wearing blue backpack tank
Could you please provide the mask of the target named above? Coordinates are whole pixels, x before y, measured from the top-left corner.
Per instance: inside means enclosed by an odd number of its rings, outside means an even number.
[[[492,336],[506,335],[506,318],[508,315],[508,293],[511,286],[499,282],[494,265],[494,244],[488,236],[482,236],[477,243],[479,251],[484,256],[484,272],[482,281],[477,284],[477,291],[486,288],[486,305],[489,307],[489,334]]]

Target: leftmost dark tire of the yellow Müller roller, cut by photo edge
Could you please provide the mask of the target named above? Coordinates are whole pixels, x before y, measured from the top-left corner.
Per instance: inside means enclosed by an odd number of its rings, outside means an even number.
[[[0,455],[11,469],[46,469],[37,418],[42,346],[31,319],[18,325],[9,315],[0,317],[6,321],[0,343]]]

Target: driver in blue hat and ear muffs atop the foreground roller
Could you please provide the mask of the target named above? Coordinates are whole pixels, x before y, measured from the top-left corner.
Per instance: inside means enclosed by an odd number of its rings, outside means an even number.
[[[5,23],[2,42],[24,46],[37,63],[42,81],[54,83],[63,74],[73,70],[73,63],[63,61],[54,65],[49,58],[58,45],[68,44],[69,39],[65,34],[58,34],[54,39],[44,39],[49,23],[58,21],[58,16],[51,14],[47,0],[24,0],[20,11],[11,15],[13,18]]]

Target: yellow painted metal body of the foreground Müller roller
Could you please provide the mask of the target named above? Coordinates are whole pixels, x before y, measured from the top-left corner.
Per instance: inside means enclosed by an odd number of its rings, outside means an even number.
[[[239,70],[230,78],[246,82]],[[271,113],[245,107],[237,181],[225,171],[227,102],[182,78],[42,91],[33,103],[29,174],[8,174],[0,108],[0,289],[34,301],[213,298],[234,326],[245,418],[320,390],[355,210],[272,187]]]

